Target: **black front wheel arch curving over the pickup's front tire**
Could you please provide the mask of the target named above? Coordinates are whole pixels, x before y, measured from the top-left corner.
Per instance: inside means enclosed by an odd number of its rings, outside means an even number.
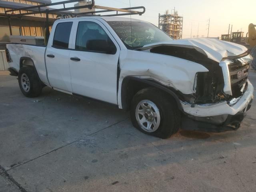
[[[138,78],[134,76],[127,76],[122,81],[122,87],[121,87],[122,108],[124,110],[129,110],[133,96],[139,90],[147,87],[155,87],[162,90],[166,94],[169,94],[170,96],[172,96],[172,98],[174,98],[174,100],[176,100],[179,110],[183,111],[183,108],[180,103],[180,98],[179,98],[179,97],[182,97],[182,95],[178,91],[176,91],[174,88],[167,87],[153,79],[143,79],[143,78]]]

